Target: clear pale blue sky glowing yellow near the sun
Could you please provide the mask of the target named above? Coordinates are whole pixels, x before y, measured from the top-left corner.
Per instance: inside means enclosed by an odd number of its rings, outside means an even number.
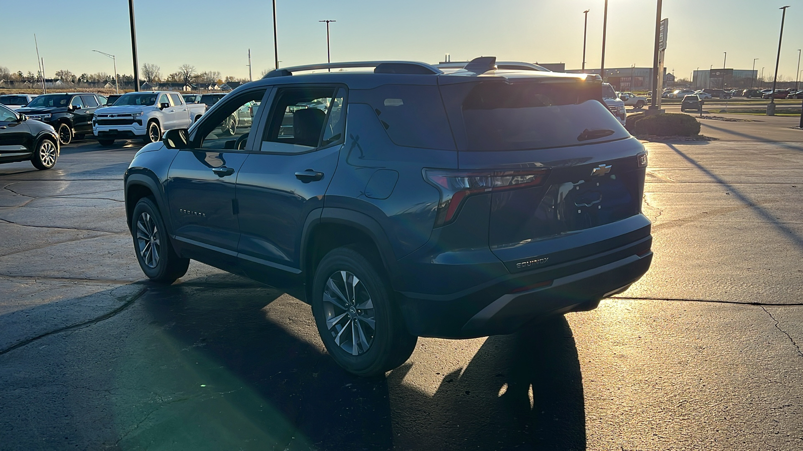
[[[279,63],[326,61],[332,19],[332,61],[414,59],[437,63],[495,55],[499,59],[581,67],[583,14],[590,9],[587,68],[598,68],[604,0],[277,0]],[[273,67],[270,0],[135,0],[139,62],[162,75],[189,63],[198,71],[247,77]],[[69,6],[67,6],[69,5]],[[650,67],[655,0],[609,0],[605,67]],[[795,79],[803,47],[803,1],[665,0],[669,18],[666,67],[688,78],[697,67],[756,70],[771,76],[777,55],[780,6],[787,10],[779,75]],[[126,0],[0,0],[0,66],[36,71],[34,33],[51,76],[59,69],[132,74]]]

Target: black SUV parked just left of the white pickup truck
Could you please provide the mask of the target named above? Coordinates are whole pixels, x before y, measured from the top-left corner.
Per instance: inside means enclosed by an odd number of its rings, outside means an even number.
[[[38,95],[17,111],[29,119],[41,120],[55,128],[62,145],[92,134],[92,115],[101,105],[91,92],[65,92]]]

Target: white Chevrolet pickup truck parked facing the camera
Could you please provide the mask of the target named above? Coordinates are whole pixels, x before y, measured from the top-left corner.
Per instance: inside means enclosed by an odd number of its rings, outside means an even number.
[[[161,140],[165,130],[190,128],[204,112],[205,105],[186,104],[178,92],[128,92],[111,107],[95,111],[92,133],[104,146],[132,139],[148,144]]]

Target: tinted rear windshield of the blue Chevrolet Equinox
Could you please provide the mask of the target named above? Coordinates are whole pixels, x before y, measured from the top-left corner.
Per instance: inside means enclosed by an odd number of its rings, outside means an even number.
[[[463,100],[467,150],[564,147],[630,136],[600,100],[595,83],[478,83]]]

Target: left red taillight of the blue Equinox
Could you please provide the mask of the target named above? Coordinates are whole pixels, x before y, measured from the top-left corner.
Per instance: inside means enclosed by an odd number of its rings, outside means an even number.
[[[424,169],[426,181],[441,193],[434,226],[441,227],[454,221],[467,197],[543,185],[548,175],[548,168],[484,171]]]

